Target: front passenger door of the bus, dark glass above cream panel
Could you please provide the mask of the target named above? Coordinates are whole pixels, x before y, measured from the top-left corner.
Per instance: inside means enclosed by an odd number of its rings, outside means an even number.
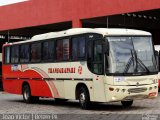
[[[101,39],[88,41],[87,65],[93,74],[95,101],[105,101],[104,92],[104,55]]]

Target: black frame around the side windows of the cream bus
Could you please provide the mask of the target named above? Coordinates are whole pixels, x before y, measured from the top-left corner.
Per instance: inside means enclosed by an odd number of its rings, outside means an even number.
[[[39,41],[27,41],[25,43],[19,43],[19,44],[15,44],[15,45],[19,45],[19,49],[20,49],[20,46],[21,45],[24,45],[24,44],[28,44],[29,45],[29,61],[28,62],[21,62],[20,61],[20,50],[19,50],[19,62],[16,63],[16,64],[40,64],[40,63],[59,63],[59,62],[76,62],[76,61],[87,61],[87,41],[88,41],[88,36],[89,35],[93,35],[95,36],[95,38],[100,38],[100,36],[102,36],[101,34],[98,34],[98,33],[82,33],[82,34],[76,34],[76,35],[70,35],[70,36],[64,36],[64,37],[57,37],[57,38],[48,38],[48,39],[43,39],[43,40],[39,40]],[[79,38],[79,37],[83,37],[85,40],[85,53],[84,53],[84,57],[83,58],[79,58],[77,60],[74,60],[72,58],[72,39],[73,38]],[[57,60],[57,51],[56,51],[56,45],[57,45],[57,41],[58,40],[64,40],[64,39],[69,39],[69,59],[68,60]],[[90,38],[89,38],[90,39]],[[42,51],[42,47],[43,47],[43,43],[44,42],[50,42],[50,41],[53,41],[54,42],[54,60],[43,60],[43,51]],[[80,41],[80,40],[78,40]],[[31,60],[31,46],[32,44],[36,44],[36,43],[40,43],[41,44],[41,58],[39,61],[32,61]],[[79,45],[79,43],[78,43]],[[11,47],[14,46],[14,45],[6,45],[4,46],[4,49],[6,47],[10,47],[10,62],[9,63],[4,63],[4,64],[13,64],[11,63]],[[79,45],[80,46],[80,45]],[[78,50],[77,50],[78,51]],[[80,54],[79,52],[77,53],[78,55]]]

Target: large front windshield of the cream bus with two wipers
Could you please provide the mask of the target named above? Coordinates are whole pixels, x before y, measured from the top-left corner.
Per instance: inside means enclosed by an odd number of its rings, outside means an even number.
[[[106,37],[109,42],[107,73],[141,75],[157,72],[151,37]]]

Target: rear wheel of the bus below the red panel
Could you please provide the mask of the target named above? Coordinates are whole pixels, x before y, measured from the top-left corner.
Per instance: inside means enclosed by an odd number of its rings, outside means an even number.
[[[29,85],[27,84],[24,85],[22,92],[23,92],[23,101],[25,103],[33,103],[39,101],[39,97],[31,96],[31,89]]]

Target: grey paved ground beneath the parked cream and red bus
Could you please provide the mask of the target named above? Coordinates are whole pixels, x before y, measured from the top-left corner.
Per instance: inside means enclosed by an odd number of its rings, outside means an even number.
[[[0,119],[8,114],[56,115],[59,119],[106,119],[107,120],[158,120],[160,116],[160,96],[151,100],[134,101],[131,108],[123,108],[120,103],[95,103],[91,110],[81,110],[78,101],[56,103],[52,99],[41,99],[37,104],[26,104],[21,95],[0,92]],[[39,120],[42,119],[36,116]],[[46,117],[46,116],[43,116]],[[143,119],[148,118],[148,119]]]

